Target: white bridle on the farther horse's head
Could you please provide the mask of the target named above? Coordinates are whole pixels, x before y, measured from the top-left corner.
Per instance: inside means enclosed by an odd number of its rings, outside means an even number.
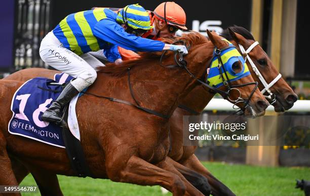
[[[249,63],[251,64],[252,66],[252,69],[253,71],[256,73],[258,79],[260,80],[260,82],[263,84],[263,86],[265,87],[263,90],[261,90],[260,92],[262,94],[264,94],[265,92],[268,94],[268,95],[264,95],[264,97],[269,101],[269,104],[272,105],[276,102],[276,95],[274,93],[272,93],[270,91],[270,87],[272,87],[274,84],[276,84],[276,82],[278,82],[279,79],[281,79],[282,75],[281,73],[279,73],[277,75],[277,77],[275,77],[275,79],[270,82],[269,84],[265,81],[264,77],[262,76],[262,74],[259,72],[259,70],[257,69],[256,65],[253,63],[252,59],[250,58],[249,56],[249,53],[253,50],[253,48],[255,46],[259,45],[259,43],[256,41],[254,42],[249,48],[248,50],[245,50],[244,47],[242,45],[239,44],[239,48],[241,50],[241,52],[243,54],[245,54],[245,61],[248,60]]]

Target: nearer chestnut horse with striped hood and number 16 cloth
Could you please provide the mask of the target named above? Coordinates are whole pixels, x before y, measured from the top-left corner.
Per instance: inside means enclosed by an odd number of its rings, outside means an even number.
[[[213,49],[227,47],[215,33],[208,31],[211,42],[198,33],[180,37],[191,45],[190,54],[184,59],[187,68],[197,77],[205,73],[210,63]],[[167,69],[158,64],[159,54],[144,54],[142,59],[125,62],[121,66],[108,66],[101,69],[94,85],[88,92],[109,95],[132,103],[134,99],[127,84],[128,68],[131,69],[132,87],[139,104],[165,115],[171,115],[178,100],[187,95],[199,83],[183,69]],[[172,55],[164,59],[165,64],[173,63]],[[143,66],[144,65],[144,66]],[[243,64],[235,64],[241,70]],[[234,81],[233,85],[253,83],[250,75]],[[8,153],[18,159],[30,172],[76,175],[71,169],[66,152],[62,148],[42,144],[24,137],[8,133],[11,119],[10,103],[21,82],[0,82],[0,184],[17,185]],[[222,89],[225,89],[223,86]],[[256,114],[263,114],[267,105],[265,98],[249,86],[238,87],[242,97],[250,97],[249,105]],[[251,96],[252,95],[252,96]],[[238,97],[239,95],[231,95]],[[98,105],[104,105],[102,107]],[[116,182],[140,185],[161,185],[173,195],[201,195],[195,187],[172,166],[166,158],[169,151],[168,119],[148,114],[135,107],[110,102],[85,95],[76,105],[81,131],[81,143],[87,163],[94,178],[109,178]],[[95,116],[97,114],[97,116]],[[132,117],[128,117],[132,116]],[[122,122],[122,123],[120,123]],[[49,152],[49,153],[47,153]]]

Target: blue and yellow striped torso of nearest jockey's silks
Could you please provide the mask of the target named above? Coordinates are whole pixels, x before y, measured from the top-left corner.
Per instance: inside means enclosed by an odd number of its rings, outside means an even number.
[[[106,43],[98,40],[93,30],[98,21],[107,18],[109,12],[113,13],[102,8],[70,14],[54,28],[53,33],[65,48],[75,54],[98,51]]]

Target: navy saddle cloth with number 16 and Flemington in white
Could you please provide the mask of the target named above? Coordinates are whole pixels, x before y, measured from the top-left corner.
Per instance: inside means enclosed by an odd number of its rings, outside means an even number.
[[[13,116],[9,122],[9,132],[65,148],[61,133],[62,128],[53,123],[42,121],[41,116],[62,91],[60,85],[50,83],[64,84],[72,79],[73,77],[66,73],[59,73],[54,75],[54,80],[36,77],[24,83],[15,92],[12,99],[11,110]],[[76,95],[70,101],[68,127],[73,136],[80,140],[79,124],[75,113],[78,98],[79,95]]]

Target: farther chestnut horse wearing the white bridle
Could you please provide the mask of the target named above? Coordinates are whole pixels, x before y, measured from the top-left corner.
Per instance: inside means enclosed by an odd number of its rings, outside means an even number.
[[[224,30],[221,33],[221,36],[225,37],[227,40],[232,42],[239,50],[239,44],[243,46],[246,50],[248,50],[254,43],[254,37],[251,33],[243,27],[230,27],[230,31],[228,29]],[[238,32],[238,33],[234,33]],[[251,51],[249,51],[249,56],[253,60],[257,69],[261,72],[262,76],[269,84],[279,75],[279,72],[273,65],[272,61],[270,61],[269,57],[262,50],[261,47],[255,46]],[[247,61],[248,65],[250,63]],[[57,73],[56,71],[50,70],[49,72],[42,72],[43,69],[33,68],[26,69],[15,72],[8,76],[7,80],[20,80],[27,81],[31,79],[33,76],[46,76],[53,78],[53,75]],[[250,71],[255,81],[259,82],[259,88],[262,90],[264,87],[262,86],[261,81],[258,79],[257,75],[253,71],[250,66]],[[274,103],[275,110],[282,111],[285,107],[289,109],[292,107],[293,103],[296,101],[297,97],[292,89],[288,86],[288,84],[281,78],[277,81],[270,90],[276,93],[277,102]],[[214,94],[209,93],[203,87],[196,87],[192,93],[189,93],[183,100],[181,100],[181,104],[192,108],[192,110],[196,110],[197,112],[201,112],[208,102],[211,100]],[[284,102],[283,102],[284,101]],[[282,104],[281,104],[282,102]],[[279,104],[280,103],[280,104]],[[283,106],[282,106],[283,105]],[[195,170],[196,172],[203,174],[209,180],[209,183],[212,187],[213,195],[234,195],[224,184],[219,182],[197,159],[193,152],[195,151],[195,146],[183,146],[183,137],[182,137],[182,116],[183,115],[191,115],[192,113],[185,111],[184,109],[177,108],[171,117],[171,136],[172,136],[172,151],[169,153],[169,156],[175,161],[181,163],[182,165]],[[24,176],[28,174],[26,168],[22,165],[18,164],[16,161],[13,162],[16,164],[15,170],[18,170],[19,181],[21,181]],[[179,168],[177,168],[179,169]],[[180,171],[180,169],[179,169]],[[57,178],[56,175],[54,178]],[[49,179],[54,179],[49,178]],[[45,184],[51,184],[51,181],[47,181]],[[58,185],[58,182],[55,184]],[[57,187],[56,185],[53,187]]]

